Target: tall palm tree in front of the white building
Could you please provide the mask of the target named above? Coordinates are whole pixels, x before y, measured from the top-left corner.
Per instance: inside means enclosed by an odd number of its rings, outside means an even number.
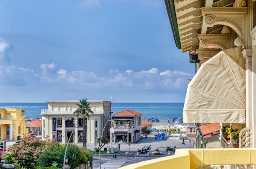
[[[91,110],[90,103],[87,102],[87,99],[79,100],[80,103],[76,104],[78,106],[78,109],[74,112],[74,115],[83,116],[83,147],[86,147],[86,129],[87,129],[87,122],[85,121],[86,118],[90,118],[90,113],[93,114],[93,111]]]

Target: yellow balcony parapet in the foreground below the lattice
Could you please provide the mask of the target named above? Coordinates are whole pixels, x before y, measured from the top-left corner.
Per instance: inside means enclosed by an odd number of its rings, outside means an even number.
[[[256,167],[256,149],[177,149],[174,155],[130,164],[120,169],[170,167],[175,169],[254,168]]]

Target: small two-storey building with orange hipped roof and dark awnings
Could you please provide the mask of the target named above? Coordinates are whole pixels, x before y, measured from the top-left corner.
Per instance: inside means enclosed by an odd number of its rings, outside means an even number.
[[[124,110],[111,115],[110,142],[136,142],[141,137],[142,113],[133,110]]]

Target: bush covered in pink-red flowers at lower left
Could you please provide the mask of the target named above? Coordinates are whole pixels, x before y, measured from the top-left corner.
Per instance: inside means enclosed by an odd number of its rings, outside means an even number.
[[[53,140],[39,140],[33,136],[21,139],[19,143],[8,148],[8,152],[2,158],[8,163],[34,168],[37,165],[37,158],[50,146],[54,145]]]

